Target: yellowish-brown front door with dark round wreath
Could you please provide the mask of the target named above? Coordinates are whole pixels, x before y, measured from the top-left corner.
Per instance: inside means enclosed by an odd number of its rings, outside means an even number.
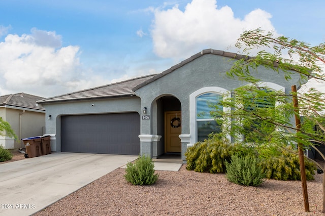
[[[181,152],[181,111],[165,112],[166,152]]]

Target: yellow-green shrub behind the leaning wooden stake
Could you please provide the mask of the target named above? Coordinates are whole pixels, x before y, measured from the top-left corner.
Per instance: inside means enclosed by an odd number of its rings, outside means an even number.
[[[262,161],[263,171],[266,172],[267,179],[275,180],[301,180],[299,156],[282,150],[281,155],[265,158]],[[314,180],[316,165],[305,159],[306,179]]]

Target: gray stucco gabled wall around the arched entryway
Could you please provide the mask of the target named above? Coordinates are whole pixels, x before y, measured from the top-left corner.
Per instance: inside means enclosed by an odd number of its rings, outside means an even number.
[[[189,135],[190,131],[190,94],[204,87],[218,87],[232,91],[248,83],[238,79],[230,78],[226,71],[231,68],[230,58],[206,54],[193,61],[167,73],[153,82],[150,82],[136,90],[136,95],[141,98],[142,107],[148,108],[148,115],[155,116],[156,100],[161,96],[171,95],[181,102],[182,111],[182,135]],[[163,72],[164,73],[164,72]],[[284,73],[277,73],[264,67],[258,71],[251,71],[251,74],[264,82],[272,82],[285,88],[285,92],[291,91],[291,85],[296,84],[299,88],[300,77],[297,74],[291,75],[290,80],[285,80]],[[141,128],[141,134],[159,134],[156,118],[145,121]],[[192,136],[192,135],[191,135]],[[182,143],[182,158],[184,159],[185,143]]]

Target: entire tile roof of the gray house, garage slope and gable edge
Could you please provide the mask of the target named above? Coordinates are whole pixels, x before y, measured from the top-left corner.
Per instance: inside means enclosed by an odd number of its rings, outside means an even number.
[[[236,53],[224,52],[220,50],[207,49],[203,50],[200,53],[197,53],[190,58],[180,62],[177,65],[172,66],[170,69],[165,70],[159,74],[152,74],[147,76],[142,76],[134,79],[129,79],[117,83],[112,83],[108,85],[103,85],[101,87],[96,87],[92,89],[82,90],[78,92],[73,92],[65,95],[54,96],[51,98],[43,99],[37,103],[45,104],[52,102],[62,102],[62,101],[72,101],[72,100],[85,100],[85,99],[98,99],[98,98],[110,98],[110,97],[123,97],[123,96],[133,96],[137,89],[140,89],[144,85],[153,82],[154,80],[165,76],[168,73],[171,73],[177,68],[182,67],[183,65],[197,59],[206,54],[214,54],[219,56],[224,56],[234,59],[248,59],[251,57],[245,55],[238,55]]]

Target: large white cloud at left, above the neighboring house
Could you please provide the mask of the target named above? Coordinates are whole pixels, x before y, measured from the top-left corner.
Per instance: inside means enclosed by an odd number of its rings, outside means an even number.
[[[0,95],[25,92],[51,97],[106,82],[79,62],[78,46],[61,47],[55,32],[31,29],[0,42]]]

